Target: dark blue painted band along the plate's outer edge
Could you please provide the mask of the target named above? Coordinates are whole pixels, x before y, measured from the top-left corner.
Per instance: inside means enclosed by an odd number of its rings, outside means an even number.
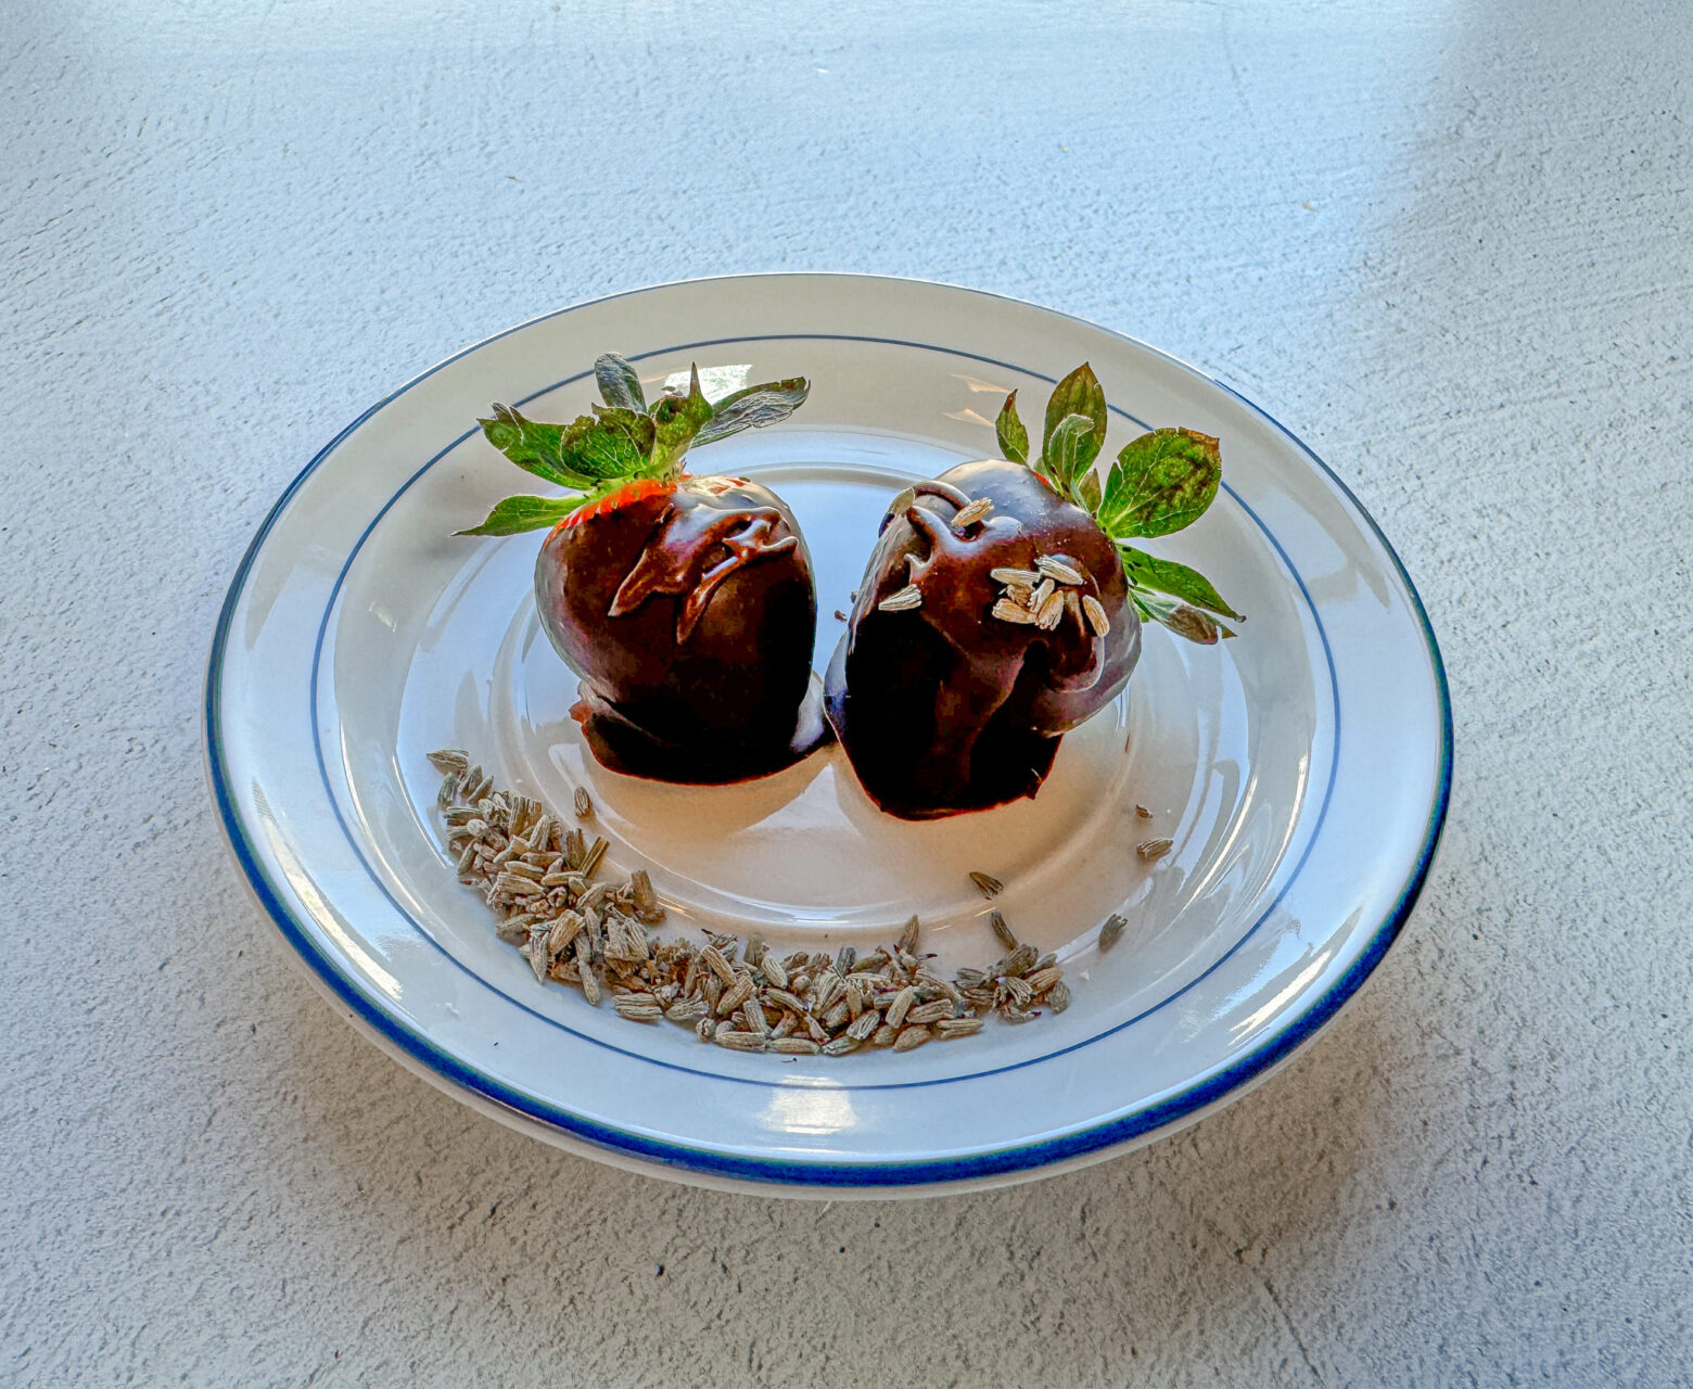
[[[630,293],[642,293],[642,291],[630,291]],[[980,291],[972,291],[972,293],[980,293]],[[608,298],[616,299],[623,296],[620,294]],[[606,303],[606,299],[598,299],[593,303]],[[586,306],[587,305],[577,305],[567,310],[559,310],[550,315],[542,315],[540,318],[532,320],[532,323],[545,321],[549,318],[555,318],[559,315],[571,313],[577,308],[586,308]],[[1373,531],[1376,541],[1393,563],[1400,577],[1400,582],[1405,587],[1424,643],[1427,646],[1427,655],[1439,700],[1441,744],[1439,744],[1436,793],[1431,802],[1422,846],[1417,853],[1415,863],[1412,865],[1412,871],[1403,888],[1400,890],[1393,910],[1387,915],[1381,925],[1370,937],[1368,944],[1359,953],[1359,956],[1300,1017],[1293,1018],[1290,1024],[1283,1027],[1283,1030],[1270,1037],[1246,1057],[1241,1057],[1238,1062],[1219,1071],[1217,1074],[1209,1076],[1207,1079],[1188,1086],[1182,1093],[1173,1095],[1168,1100],[1163,1100],[1153,1106],[1139,1110],[1138,1113],[1126,1115],[1122,1118],[1111,1120],[1078,1132],[1072,1132],[1060,1139],[1023,1144],[1001,1150],[972,1154],[968,1157],[958,1157],[958,1159],[918,1161],[918,1162],[901,1162],[901,1164],[799,1164],[799,1162],[782,1162],[782,1161],[755,1159],[755,1157],[736,1157],[731,1154],[706,1152],[676,1144],[662,1144],[650,1139],[643,1139],[640,1135],[625,1134],[616,1128],[582,1120],[581,1117],[571,1115],[569,1112],[559,1110],[557,1106],[552,1105],[537,1103],[532,1096],[513,1091],[499,1084],[498,1081],[493,1081],[491,1078],[466,1068],[462,1062],[457,1061],[457,1057],[447,1054],[433,1042],[430,1042],[427,1037],[413,1032],[411,1029],[393,1018],[389,1013],[386,1013],[383,1008],[379,1008],[364,991],[357,988],[357,985],[350,978],[342,974],[342,971],[335,966],[334,961],[325,958],[317,949],[310,934],[300,925],[300,922],[293,919],[281,895],[269,883],[262,866],[259,865],[259,859],[251,848],[251,841],[247,839],[245,827],[242,826],[240,817],[235,812],[234,799],[230,795],[230,787],[227,780],[225,758],[218,738],[218,729],[222,726],[220,672],[227,648],[229,629],[247,574],[251,572],[251,567],[257,557],[257,552],[266,535],[269,533],[274,521],[286,509],[288,502],[296,494],[296,491],[312,475],[312,472],[327,457],[330,457],[335,452],[335,448],[354,430],[364,425],[369,418],[379,413],[398,396],[413,389],[422,381],[427,381],[430,376],[433,376],[442,367],[449,365],[450,362],[455,362],[460,357],[467,355],[469,352],[484,347],[488,342],[494,342],[513,332],[520,332],[521,328],[532,327],[532,323],[516,325],[515,328],[508,328],[503,333],[496,333],[494,337],[486,338],[481,343],[474,343],[472,347],[467,347],[462,352],[454,354],[454,357],[449,357],[447,360],[437,364],[430,371],[420,374],[413,381],[401,386],[398,391],[386,396],[378,404],[371,406],[371,409],[367,409],[354,423],[350,423],[345,430],[342,430],[300,472],[300,475],[290,484],[290,487],[283,492],[281,499],[271,509],[266,521],[261,524],[257,535],[252,540],[252,545],[249,546],[247,553],[244,555],[235,572],[212,643],[212,658],[208,663],[207,704],[205,704],[207,760],[208,760],[208,773],[213,787],[215,802],[218,805],[218,814],[225,834],[230,841],[230,846],[244,873],[247,875],[249,883],[252,885],[259,902],[273,917],[283,936],[295,946],[300,956],[313,968],[313,971],[332,990],[332,993],[337,998],[340,998],[340,1002],[345,1003],[354,1012],[356,1017],[371,1025],[381,1037],[398,1046],[401,1051],[413,1056],[416,1061],[423,1062],[442,1078],[450,1079],[455,1084],[464,1086],[466,1090],[481,1095],[486,1100],[511,1108],[518,1113],[528,1115],[530,1118],[550,1125],[560,1130],[562,1134],[569,1134],[576,1139],[586,1140],[599,1147],[606,1147],[609,1150],[626,1152],[630,1156],[637,1156],[647,1161],[655,1161],[667,1166],[681,1166],[692,1171],[731,1178],[731,1179],[794,1183],[806,1186],[860,1186],[860,1188],[916,1186],[916,1184],[931,1184],[945,1181],[965,1181],[972,1178],[1026,1171],[1051,1162],[1080,1157],[1104,1147],[1112,1147],[1116,1144],[1126,1142],[1141,1134],[1161,1128],[1175,1120],[1180,1120],[1185,1115],[1190,1115],[1210,1103],[1216,1103],[1217,1100],[1224,1098],[1229,1091],[1236,1090],[1238,1086],[1244,1084],[1246,1081],[1253,1079],[1255,1076],[1261,1074],[1265,1069],[1275,1066],[1278,1061],[1288,1056],[1307,1037],[1310,1037],[1324,1022],[1327,1022],[1327,1018],[1332,1017],[1332,1013],[1361,986],[1363,980],[1368,978],[1375,964],[1381,959],[1392,941],[1397,937],[1407,915],[1415,905],[1415,900],[1426,881],[1436,844],[1439,841],[1439,832],[1444,824],[1446,809],[1451,797],[1453,719],[1451,719],[1451,702],[1448,694],[1446,672],[1444,672],[1444,663],[1441,660],[1439,646],[1434,640],[1432,628],[1429,626],[1427,612],[1424,611],[1422,601],[1417,596],[1415,585],[1410,582],[1409,574],[1405,574],[1403,563],[1398,560],[1398,555],[1393,552],[1385,535],[1381,535],[1380,526],[1375,524],[1373,518],[1370,518],[1370,514],[1363,509],[1363,506],[1358,504],[1358,499],[1334,475],[1334,472],[1321,458],[1317,458],[1317,455],[1312,453],[1304,443],[1300,443],[1299,438],[1292,435],[1292,431],[1288,431],[1283,425],[1280,425],[1280,421],[1273,420],[1258,406],[1255,406],[1251,401],[1239,396],[1239,393],[1233,391],[1222,382],[1217,382],[1205,372],[1199,372],[1197,369],[1187,364],[1178,364],[1185,371],[1190,371],[1195,376],[1199,376],[1200,379],[1214,386],[1219,386],[1231,398],[1241,401],[1241,404],[1244,404],[1251,413],[1268,421],[1305,458],[1309,458],[1321,470],[1321,474],[1329,480],[1329,484],[1343,497],[1346,497],[1348,502],[1351,502],[1358,518],[1361,518],[1361,521]],[[1106,332],[1095,328],[1094,325],[1087,327],[1094,328],[1095,332]],[[951,349],[943,349],[943,350],[950,352]],[[1158,355],[1163,355],[1166,360],[1173,360],[1168,359],[1166,354],[1158,354]]]

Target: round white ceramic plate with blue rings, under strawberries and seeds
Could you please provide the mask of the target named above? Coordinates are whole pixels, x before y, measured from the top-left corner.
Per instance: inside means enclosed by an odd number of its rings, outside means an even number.
[[[777,489],[819,582],[818,665],[907,480],[995,453],[1017,387],[1090,360],[1107,455],[1143,428],[1222,440],[1224,492],[1160,552],[1248,614],[1188,646],[1150,628],[1117,704],[1072,733],[1034,800],[933,824],[872,810],[840,751],[745,787],[603,771],[540,634],[538,535],[467,540],[532,491],[479,435],[491,403],[572,418],[618,350],[660,382],[804,374],[787,423],[696,470]],[[1073,988],[1063,1015],[914,1052],[747,1056],[542,986],[459,887],[425,753],[462,746],[555,807],[586,785],[609,861],[647,866],[669,929],[757,927],[782,949],[865,947],[909,912],[943,963],[997,951],[967,873]],[[1128,751],[1126,751],[1128,746]],[[240,866],[340,1010],[449,1093],[640,1171],[794,1193],[1009,1181],[1146,1142],[1312,1035],[1381,959],[1446,812],[1439,651],[1381,533],[1299,440],[1143,343],[1048,310],[865,276],[691,281],[525,323],[416,377],[283,494],[223,606],[207,684],[212,785]],[[1148,822],[1134,805],[1153,810]],[[1155,865],[1134,844],[1170,836]],[[1112,912],[1129,929],[1095,944]]]

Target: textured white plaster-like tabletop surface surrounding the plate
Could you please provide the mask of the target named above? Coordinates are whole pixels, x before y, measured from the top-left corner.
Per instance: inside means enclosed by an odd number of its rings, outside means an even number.
[[[0,5],[0,1377],[1690,1382],[1693,15],[494,8]],[[201,665],[298,467],[540,310],[779,267],[1188,357],[1422,589],[1422,907],[1180,1139],[929,1205],[621,1176],[357,1040],[225,861]]]

